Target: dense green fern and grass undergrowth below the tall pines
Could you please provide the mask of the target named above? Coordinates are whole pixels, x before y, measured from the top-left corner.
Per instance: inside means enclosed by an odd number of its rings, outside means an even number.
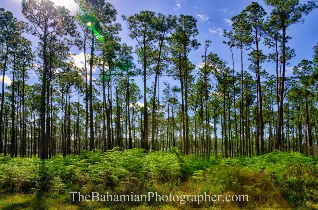
[[[83,151],[81,155],[65,158],[57,155],[41,161],[39,158],[0,157],[0,209],[32,209],[32,205],[48,209],[57,205],[48,203],[49,200],[59,202],[56,208],[63,209],[312,209],[318,203],[317,161],[313,156],[287,152],[208,160],[198,155],[181,155],[174,149],[148,153],[142,149],[121,151],[121,148],[110,152]],[[185,205],[176,202],[72,202],[69,192],[247,194],[249,202],[200,205],[195,202]],[[11,196],[19,197],[17,200],[23,200],[23,205],[14,203],[16,200]]]

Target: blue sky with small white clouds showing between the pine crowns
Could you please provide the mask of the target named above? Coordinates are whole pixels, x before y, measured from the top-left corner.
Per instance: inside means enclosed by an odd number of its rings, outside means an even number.
[[[53,2],[64,5],[69,9],[77,10],[77,5],[73,0],[53,0]],[[231,17],[241,12],[247,5],[252,1],[248,0],[109,0],[118,12],[117,22],[122,24],[122,31],[120,37],[123,43],[127,43],[130,46],[135,46],[135,40],[132,40],[128,36],[128,30],[125,24],[122,22],[121,15],[130,16],[138,13],[141,10],[152,10],[163,14],[172,15],[192,15],[197,18],[197,28],[199,31],[196,37],[200,43],[204,43],[206,39],[212,41],[209,51],[217,53],[222,59],[229,62],[232,65],[231,54],[227,45],[223,44],[222,41],[226,40],[223,35],[223,29],[231,30]],[[264,4],[263,1],[257,1],[264,7],[267,13],[270,12],[269,8]],[[305,3],[305,2],[302,2]],[[5,10],[13,12],[14,16],[18,20],[25,20],[21,13],[21,0],[1,0],[0,7],[4,7]],[[294,57],[290,64],[287,65],[286,76],[292,75],[292,68],[297,65],[302,59],[312,59],[313,46],[318,42],[317,24],[318,10],[312,11],[308,16],[305,17],[306,21],[301,25],[292,25],[287,35],[291,36],[292,39],[288,42],[288,46],[295,49],[296,57]],[[27,38],[31,39],[33,45],[37,45],[37,40],[34,37],[26,35]],[[261,49],[265,54],[269,52],[266,46],[261,46]],[[72,53],[79,54],[77,49],[72,49]],[[204,53],[204,46],[201,45],[196,51],[190,53],[190,61],[199,66],[201,63],[201,55]],[[247,60],[247,53],[244,54],[244,69],[247,70],[250,62]],[[238,49],[234,49],[234,67],[240,69],[240,54]],[[266,69],[270,74],[274,74],[273,63],[263,63],[263,69]],[[196,69],[197,72],[198,69]],[[197,74],[194,72],[193,74]],[[97,72],[96,72],[97,73]],[[252,73],[254,75],[254,73]],[[8,75],[11,78],[12,75]],[[2,76],[1,76],[2,78]],[[37,81],[36,75],[31,75],[29,83]],[[141,78],[135,78],[140,89],[142,89]],[[169,81],[170,83],[179,84],[179,81],[174,81],[172,78],[163,76],[160,78],[160,92],[162,91],[163,81]],[[147,86],[151,87],[151,80],[147,81]],[[162,92],[160,93],[162,96]],[[160,97],[161,99],[161,97]],[[142,100],[141,100],[142,102]]]

